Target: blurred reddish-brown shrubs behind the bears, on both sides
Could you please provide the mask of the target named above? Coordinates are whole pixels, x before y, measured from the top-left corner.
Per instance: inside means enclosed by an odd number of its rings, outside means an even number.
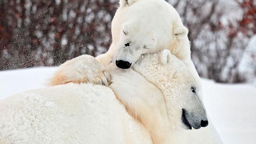
[[[256,79],[256,0],[167,0],[189,29],[203,78]],[[0,70],[105,53],[119,0],[0,0]]]

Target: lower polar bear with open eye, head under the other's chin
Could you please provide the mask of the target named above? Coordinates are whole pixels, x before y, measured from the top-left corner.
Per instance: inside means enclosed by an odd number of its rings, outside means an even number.
[[[0,144],[169,144],[179,127],[207,126],[197,85],[169,50],[132,68],[112,69],[113,91],[69,83],[1,100]]]

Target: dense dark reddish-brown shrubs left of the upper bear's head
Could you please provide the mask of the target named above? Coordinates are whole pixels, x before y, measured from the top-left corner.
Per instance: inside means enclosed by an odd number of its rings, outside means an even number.
[[[118,0],[0,2],[0,70],[56,66],[111,44]]]

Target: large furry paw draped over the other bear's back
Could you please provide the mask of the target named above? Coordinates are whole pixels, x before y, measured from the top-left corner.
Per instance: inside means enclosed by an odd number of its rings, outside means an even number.
[[[65,83],[93,83],[108,86],[111,81],[110,74],[106,68],[98,63],[91,55],[81,55],[63,63],[50,85],[62,85]]]

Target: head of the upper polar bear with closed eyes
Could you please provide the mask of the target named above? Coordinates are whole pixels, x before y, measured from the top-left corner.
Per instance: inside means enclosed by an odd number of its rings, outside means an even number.
[[[188,42],[187,28],[164,0],[120,0],[111,31],[111,59],[122,69],[130,68],[142,54],[164,48],[173,52],[173,47],[178,51],[180,41]]]

